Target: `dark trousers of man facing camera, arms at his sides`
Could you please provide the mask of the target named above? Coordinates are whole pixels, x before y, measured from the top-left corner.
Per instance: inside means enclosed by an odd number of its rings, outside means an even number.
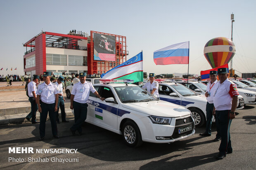
[[[40,106],[42,108],[42,113],[40,113],[40,125],[39,125],[40,137],[45,137],[45,122],[47,119],[48,112],[49,112],[49,118],[52,125],[52,135],[54,136],[58,135],[56,112],[54,111],[55,103],[47,104],[47,103],[41,102]]]

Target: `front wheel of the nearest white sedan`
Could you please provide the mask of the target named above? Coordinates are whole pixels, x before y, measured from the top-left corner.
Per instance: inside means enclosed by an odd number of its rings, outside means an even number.
[[[129,147],[139,147],[142,144],[140,130],[133,121],[127,121],[123,124],[122,136],[123,141]]]

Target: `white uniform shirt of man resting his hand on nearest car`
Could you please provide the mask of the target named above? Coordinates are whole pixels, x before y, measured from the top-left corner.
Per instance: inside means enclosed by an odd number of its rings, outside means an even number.
[[[84,84],[78,82],[73,85],[71,94],[74,95],[73,100],[75,102],[86,103],[89,98],[90,91],[92,91],[92,93],[96,91],[91,82],[85,81]]]

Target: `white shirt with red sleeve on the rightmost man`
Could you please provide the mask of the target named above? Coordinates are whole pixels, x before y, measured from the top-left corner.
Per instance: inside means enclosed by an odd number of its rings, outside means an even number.
[[[216,110],[230,110],[232,107],[232,97],[239,95],[237,86],[226,79],[223,83],[217,82],[213,105]]]

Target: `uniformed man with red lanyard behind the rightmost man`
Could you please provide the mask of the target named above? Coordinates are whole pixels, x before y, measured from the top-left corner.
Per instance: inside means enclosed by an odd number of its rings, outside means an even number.
[[[206,96],[206,128],[204,133],[200,133],[200,136],[211,136],[211,120],[213,118],[213,95],[217,89],[216,83],[217,80],[217,71],[210,71],[210,80],[206,87],[206,93],[204,94]],[[214,141],[219,141],[221,139],[219,129],[218,129],[218,122],[216,121],[216,127],[217,127],[217,134]]]

